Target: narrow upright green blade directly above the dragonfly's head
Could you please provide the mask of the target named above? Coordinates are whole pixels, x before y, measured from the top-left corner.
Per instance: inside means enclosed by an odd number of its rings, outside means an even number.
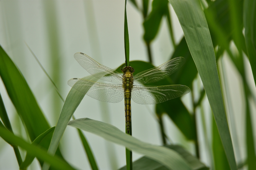
[[[126,0],[124,6],[124,52],[125,52],[125,63],[126,66],[129,66],[129,55],[130,55],[130,47],[129,47],[129,33],[128,33],[128,23],[127,23],[127,15],[126,15]]]

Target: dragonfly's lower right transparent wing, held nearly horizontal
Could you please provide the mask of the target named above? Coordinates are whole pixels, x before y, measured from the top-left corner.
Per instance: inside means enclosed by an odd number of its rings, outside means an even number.
[[[157,104],[190,92],[185,85],[143,86],[133,85],[132,100],[139,104]]]

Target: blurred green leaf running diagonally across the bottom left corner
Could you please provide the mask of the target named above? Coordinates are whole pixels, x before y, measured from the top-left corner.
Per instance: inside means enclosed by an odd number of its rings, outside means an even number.
[[[63,170],[75,170],[73,167],[71,167],[67,162],[65,162],[63,159],[52,156],[50,154],[47,154],[46,151],[44,151],[41,148],[36,147],[33,144],[28,144],[26,141],[21,139],[20,137],[16,137],[13,135],[10,131],[8,131],[6,128],[3,128],[0,126],[0,137],[2,137],[5,141],[12,145],[20,146],[21,148],[25,149],[30,155],[33,155],[37,157],[40,160],[44,160],[51,164],[52,167]]]

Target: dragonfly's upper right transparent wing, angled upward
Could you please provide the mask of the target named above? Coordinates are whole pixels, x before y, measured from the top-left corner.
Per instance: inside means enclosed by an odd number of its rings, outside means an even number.
[[[133,84],[153,83],[162,80],[178,70],[185,61],[185,58],[177,57],[158,67],[142,71],[133,77]]]

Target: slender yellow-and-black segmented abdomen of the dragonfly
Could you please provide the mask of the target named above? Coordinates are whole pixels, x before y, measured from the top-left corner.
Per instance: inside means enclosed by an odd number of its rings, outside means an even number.
[[[130,132],[131,127],[131,90],[124,90],[124,110],[125,110],[125,122],[127,133]]]

